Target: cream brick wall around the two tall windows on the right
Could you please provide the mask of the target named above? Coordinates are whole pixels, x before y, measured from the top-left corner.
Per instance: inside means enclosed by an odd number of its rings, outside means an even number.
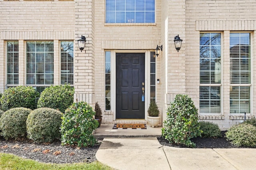
[[[199,108],[199,34],[200,31],[219,31],[222,33],[222,119],[204,115],[207,121],[218,123],[221,129],[239,123],[240,119],[233,119],[230,115],[230,60],[229,34],[230,31],[250,31],[252,48],[255,49],[256,3],[251,0],[190,0],[186,1],[186,93],[192,97]],[[252,50],[252,75],[255,77],[255,50]],[[255,89],[255,78],[252,90]],[[255,90],[252,94],[255,94]],[[252,96],[252,114],[255,115],[256,98]]]

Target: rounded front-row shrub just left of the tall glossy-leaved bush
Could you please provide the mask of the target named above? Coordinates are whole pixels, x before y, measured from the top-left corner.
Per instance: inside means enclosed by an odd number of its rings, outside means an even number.
[[[31,111],[26,122],[28,139],[36,143],[60,139],[61,117],[56,109],[42,107]]]

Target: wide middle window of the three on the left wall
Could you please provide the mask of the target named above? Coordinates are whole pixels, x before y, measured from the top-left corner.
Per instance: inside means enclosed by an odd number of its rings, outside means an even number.
[[[26,84],[30,86],[52,85],[54,78],[53,41],[28,41],[26,44]]]

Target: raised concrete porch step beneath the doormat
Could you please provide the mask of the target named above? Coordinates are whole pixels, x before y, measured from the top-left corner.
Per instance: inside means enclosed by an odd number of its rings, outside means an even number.
[[[146,124],[146,123],[144,123]],[[97,139],[103,139],[106,137],[159,137],[162,134],[162,127],[150,127],[146,125],[147,129],[112,129],[114,124],[101,124],[100,127],[95,129],[94,137]]]

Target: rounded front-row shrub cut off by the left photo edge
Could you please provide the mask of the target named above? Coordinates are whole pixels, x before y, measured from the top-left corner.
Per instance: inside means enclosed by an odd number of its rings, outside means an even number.
[[[4,139],[21,139],[26,137],[26,119],[31,109],[24,107],[9,109],[0,119],[1,135]]]

